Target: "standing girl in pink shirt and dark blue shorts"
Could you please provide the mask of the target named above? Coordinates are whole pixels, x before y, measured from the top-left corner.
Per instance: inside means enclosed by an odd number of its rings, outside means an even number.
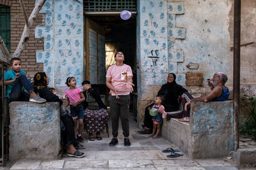
[[[65,97],[68,99],[68,104],[70,104],[71,116],[73,117],[73,119],[75,119],[74,131],[75,131],[75,134],[77,135],[78,141],[84,142],[84,139],[82,138],[83,119],[84,119],[82,102],[85,100],[85,97],[82,90],[76,87],[76,78],[68,77],[66,84],[69,87],[69,89],[65,91]],[[79,122],[78,134],[77,134],[77,120]]]

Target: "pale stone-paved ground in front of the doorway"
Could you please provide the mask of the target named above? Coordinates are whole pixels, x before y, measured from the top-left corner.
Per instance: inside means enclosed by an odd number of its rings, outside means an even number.
[[[110,147],[109,138],[104,132],[102,141],[88,141],[88,135],[84,132],[83,137],[87,157],[77,159],[63,155],[61,160],[19,160],[9,167],[1,169],[237,169],[232,159],[196,159],[191,160],[186,155],[169,159],[168,153],[161,150],[172,147],[172,144],[163,138],[152,139],[148,135],[138,134],[136,122],[131,118],[132,145],[124,146],[124,138],[120,127],[118,145]],[[111,125],[109,123],[109,132]]]

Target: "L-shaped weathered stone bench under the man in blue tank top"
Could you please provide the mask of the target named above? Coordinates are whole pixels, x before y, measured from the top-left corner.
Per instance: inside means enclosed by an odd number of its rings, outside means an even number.
[[[191,102],[189,119],[164,120],[163,138],[192,159],[223,157],[234,150],[233,101]]]

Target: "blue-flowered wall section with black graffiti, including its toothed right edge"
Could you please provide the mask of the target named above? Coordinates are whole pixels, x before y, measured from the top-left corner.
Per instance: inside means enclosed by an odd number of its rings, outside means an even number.
[[[184,62],[182,49],[174,48],[176,39],[186,38],[186,29],[176,26],[176,15],[184,14],[179,1],[140,1],[141,83],[162,85],[166,75],[177,74],[177,83],[185,84],[178,68]]]

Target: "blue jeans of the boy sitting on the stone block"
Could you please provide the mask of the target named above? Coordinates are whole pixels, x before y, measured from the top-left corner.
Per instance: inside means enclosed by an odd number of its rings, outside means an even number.
[[[26,75],[20,73],[19,78],[14,82],[9,94],[10,101],[29,101],[30,95],[27,92],[22,91],[22,87],[24,87],[29,93],[34,90]]]

